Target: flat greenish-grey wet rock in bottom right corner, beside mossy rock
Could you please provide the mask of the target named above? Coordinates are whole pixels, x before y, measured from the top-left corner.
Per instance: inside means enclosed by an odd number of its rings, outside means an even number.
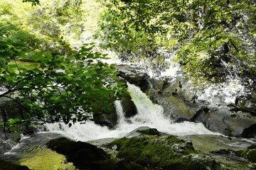
[[[219,135],[186,135],[178,137],[193,143],[193,147],[210,155],[216,162],[228,166],[227,169],[255,169],[255,145],[251,141],[237,137]]]

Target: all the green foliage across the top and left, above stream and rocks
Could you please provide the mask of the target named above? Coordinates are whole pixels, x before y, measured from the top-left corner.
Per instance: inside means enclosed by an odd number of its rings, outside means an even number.
[[[23,2],[0,2],[0,98],[23,108],[12,118],[1,106],[4,129],[31,120],[82,122],[122,96],[113,65],[90,43],[93,32],[100,47],[123,60],[163,69],[172,52],[198,84],[238,74],[255,89],[255,1]]]

